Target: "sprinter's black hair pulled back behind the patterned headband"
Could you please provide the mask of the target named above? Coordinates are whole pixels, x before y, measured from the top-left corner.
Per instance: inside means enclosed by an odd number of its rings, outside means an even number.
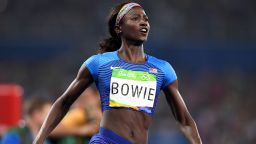
[[[116,18],[117,18],[118,12],[121,10],[121,8],[125,4],[127,4],[127,2],[118,4],[114,8],[112,8],[110,15],[108,17],[108,32],[110,34],[110,37],[102,40],[99,43],[100,45],[100,48],[98,50],[99,53],[115,51],[121,47],[121,44],[122,44],[121,37],[116,33],[115,26],[116,26]]]

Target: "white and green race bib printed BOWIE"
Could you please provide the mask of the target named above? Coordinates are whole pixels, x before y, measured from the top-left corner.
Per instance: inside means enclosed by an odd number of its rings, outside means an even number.
[[[110,107],[152,108],[156,97],[156,76],[148,72],[112,69]]]

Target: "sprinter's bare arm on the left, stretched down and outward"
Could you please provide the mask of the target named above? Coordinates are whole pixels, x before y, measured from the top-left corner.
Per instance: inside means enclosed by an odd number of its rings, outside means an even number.
[[[46,137],[66,115],[73,102],[92,82],[93,78],[89,70],[82,66],[68,89],[54,102],[33,144],[43,144]]]

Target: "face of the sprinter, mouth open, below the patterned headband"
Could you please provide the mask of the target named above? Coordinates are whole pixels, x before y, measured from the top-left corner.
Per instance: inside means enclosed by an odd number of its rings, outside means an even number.
[[[144,42],[147,40],[150,25],[141,7],[132,8],[122,19],[120,31],[123,38]]]

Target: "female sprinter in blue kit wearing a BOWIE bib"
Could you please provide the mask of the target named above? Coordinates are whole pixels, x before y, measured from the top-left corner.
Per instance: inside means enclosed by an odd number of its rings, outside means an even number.
[[[116,6],[108,26],[111,38],[100,44],[101,54],[81,66],[77,77],[54,103],[34,144],[43,143],[70,105],[93,82],[100,92],[103,119],[91,144],[146,144],[160,90],[190,143],[201,144],[196,123],[178,91],[173,68],[144,53],[150,26],[143,8],[137,3]]]

